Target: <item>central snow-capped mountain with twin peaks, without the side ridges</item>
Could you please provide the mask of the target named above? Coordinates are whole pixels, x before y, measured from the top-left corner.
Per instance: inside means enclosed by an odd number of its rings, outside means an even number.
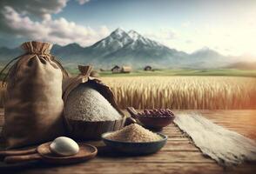
[[[106,66],[127,64],[143,67],[145,64],[152,64],[160,67],[170,64],[171,59],[171,62],[176,62],[186,56],[185,52],[169,49],[163,44],[141,36],[135,30],[125,32],[119,28],[86,50],[90,50],[90,57],[98,57]],[[92,60],[91,63],[95,61]]]

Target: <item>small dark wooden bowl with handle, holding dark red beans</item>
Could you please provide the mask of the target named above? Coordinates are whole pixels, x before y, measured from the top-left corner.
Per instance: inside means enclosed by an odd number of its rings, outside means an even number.
[[[138,116],[138,112],[132,108],[128,107],[127,110],[139,124],[142,124],[145,128],[152,131],[161,131],[164,127],[171,124],[174,117],[145,117]]]

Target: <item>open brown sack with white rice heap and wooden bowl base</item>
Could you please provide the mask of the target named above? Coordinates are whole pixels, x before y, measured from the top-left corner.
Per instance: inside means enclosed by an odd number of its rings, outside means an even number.
[[[78,66],[80,74],[64,83],[64,118],[67,131],[77,139],[97,139],[125,124],[111,89],[90,77],[91,66]]]

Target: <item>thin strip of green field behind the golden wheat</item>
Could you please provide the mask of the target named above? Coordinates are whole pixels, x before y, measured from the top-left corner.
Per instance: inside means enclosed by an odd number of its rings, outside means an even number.
[[[77,71],[72,71],[77,73]],[[214,69],[214,70],[133,70],[131,73],[112,74],[110,70],[99,72],[101,77],[135,77],[135,76],[232,76],[256,77],[256,70]]]

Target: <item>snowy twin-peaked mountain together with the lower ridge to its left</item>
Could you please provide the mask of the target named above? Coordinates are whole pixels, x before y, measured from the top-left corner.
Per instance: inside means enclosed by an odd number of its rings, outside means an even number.
[[[141,36],[135,30],[125,32],[119,28],[89,47],[82,48],[74,44],[64,47],[57,45],[57,48],[54,46],[52,53],[62,57],[65,64],[70,66],[93,64],[100,68],[111,68],[114,64],[131,65],[134,68],[143,68],[145,64],[158,68],[178,67],[184,64],[181,62],[187,57],[185,52],[169,49]]]

